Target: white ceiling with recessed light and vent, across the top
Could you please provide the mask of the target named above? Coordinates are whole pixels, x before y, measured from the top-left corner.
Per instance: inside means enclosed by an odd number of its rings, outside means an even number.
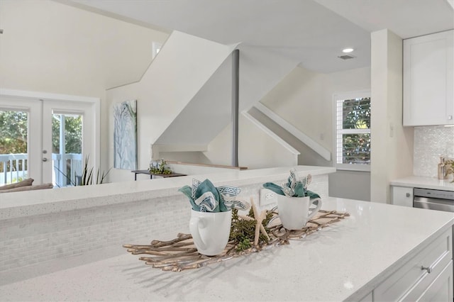
[[[62,0],[61,0],[62,1]],[[370,32],[402,38],[454,28],[452,0],[65,0],[142,25],[264,47],[317,72],[370,65]],[[341,50],[353,47],[353,60]]]

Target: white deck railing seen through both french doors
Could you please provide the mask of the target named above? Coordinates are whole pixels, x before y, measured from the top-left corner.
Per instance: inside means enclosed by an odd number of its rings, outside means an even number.
[[[77,184],[82,175],[82,154],[52,153],[52,184],[62,187]],[[26,153],[0,154],[0,186],[28,178]]]

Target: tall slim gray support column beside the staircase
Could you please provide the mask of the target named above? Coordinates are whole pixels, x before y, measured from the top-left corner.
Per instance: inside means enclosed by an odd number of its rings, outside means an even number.
[[[232,166],[238,167],[238,104],[240,91],[240,50],[232,52]]]

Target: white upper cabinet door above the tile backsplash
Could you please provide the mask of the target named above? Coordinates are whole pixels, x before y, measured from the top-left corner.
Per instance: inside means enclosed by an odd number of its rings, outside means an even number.
[[[454,30],[404,40],[404,125],[454,124]]]

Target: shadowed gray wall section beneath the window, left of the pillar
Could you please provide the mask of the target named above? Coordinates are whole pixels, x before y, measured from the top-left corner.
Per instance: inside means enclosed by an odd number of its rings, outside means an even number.
[[[370,201],[370,172],[338,170],[328,174],[329,196]]]

